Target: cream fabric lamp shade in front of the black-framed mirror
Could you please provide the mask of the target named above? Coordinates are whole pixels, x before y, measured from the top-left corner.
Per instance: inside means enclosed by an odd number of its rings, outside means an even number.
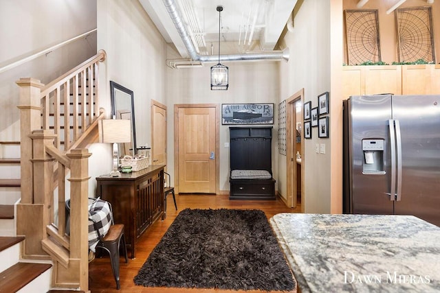
[[[98,123],[100,143],[129,143],[131,121],[128,119],[102,119]]]

